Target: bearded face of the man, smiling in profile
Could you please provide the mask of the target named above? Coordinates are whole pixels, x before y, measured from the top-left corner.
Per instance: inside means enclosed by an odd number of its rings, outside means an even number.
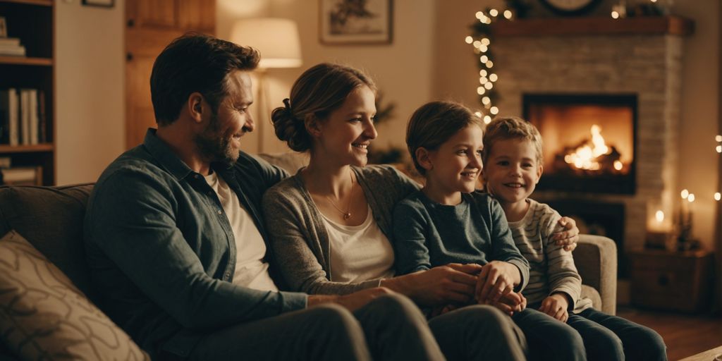
[[[228,94],[221,100],[206,127],[196,134],[196,147],[211,162],[235,162],[240,152],[240,137],[253,131],[248,107],[253,103],[251,77],[246,71],[232,71],[227,77]]]

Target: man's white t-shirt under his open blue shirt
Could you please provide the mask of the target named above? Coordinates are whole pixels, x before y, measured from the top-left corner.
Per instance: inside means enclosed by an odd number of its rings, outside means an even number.
[[[221,201],[235,238],[235,272],[233,284],[254,290],[278,292],[278,287],[269,274],[269,264],[264,262],[266,243],[258,232],[253,217],[240,204],[236,195],[223,178],[216,173],[206,175],[208,183]]]

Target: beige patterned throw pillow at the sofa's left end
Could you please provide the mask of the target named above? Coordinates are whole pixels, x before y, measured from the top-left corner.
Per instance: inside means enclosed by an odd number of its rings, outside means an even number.
[[[0,239],[0,339],[24,360],[148,360],[40,251]]]

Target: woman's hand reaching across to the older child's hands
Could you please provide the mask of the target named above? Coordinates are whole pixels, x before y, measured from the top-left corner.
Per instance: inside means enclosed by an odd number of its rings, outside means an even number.
[[[381,286],[408,296],[421,305],[466,304],[474,297],[474,284],[482,266],[448,264],[427,271],[381,280]]]

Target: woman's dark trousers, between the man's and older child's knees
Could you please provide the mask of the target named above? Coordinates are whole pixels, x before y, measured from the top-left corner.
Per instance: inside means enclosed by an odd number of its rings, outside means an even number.
[[[448,360],[526,360],[521,329],[497,308],[470,305],[429,321]]]

